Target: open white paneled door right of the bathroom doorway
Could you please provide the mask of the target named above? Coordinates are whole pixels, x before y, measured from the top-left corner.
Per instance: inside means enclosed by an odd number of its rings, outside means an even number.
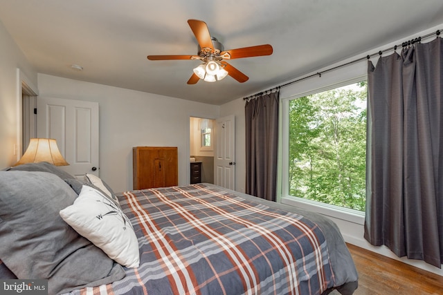
[[[235,189],[235,117],[215,120],[214,182]]]

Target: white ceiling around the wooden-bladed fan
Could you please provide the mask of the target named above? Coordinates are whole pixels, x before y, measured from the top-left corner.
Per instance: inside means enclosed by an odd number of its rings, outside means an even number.
[[[271,44],[273,54],[229,61],[245,83],[188,85],[201,61],[146,58],[196,55],[188,19],[206,21],[226,50]],[[220,105],[440,25],[443,1],[0,0],[0,21],[39,73]]]

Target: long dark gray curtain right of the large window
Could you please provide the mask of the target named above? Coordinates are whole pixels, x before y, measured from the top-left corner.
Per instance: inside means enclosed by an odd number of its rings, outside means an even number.
[[[368,61],[365,239],[443,263],[443,39]]]

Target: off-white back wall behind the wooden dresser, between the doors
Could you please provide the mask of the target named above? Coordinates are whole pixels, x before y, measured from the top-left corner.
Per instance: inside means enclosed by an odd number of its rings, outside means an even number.
[[[177,146],[179,184],[189,183],[190,117],[218,117],[219,106],[38,74],[41,97],[98,102],[100,178],[132,189],[133,146]],[[37,98],[38,99],[38,98]]]

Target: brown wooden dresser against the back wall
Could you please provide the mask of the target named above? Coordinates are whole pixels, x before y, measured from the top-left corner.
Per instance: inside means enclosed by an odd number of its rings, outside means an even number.
[[[136,146],[132,148],[134,189],[172,187],[179,183],[177,147]]]

